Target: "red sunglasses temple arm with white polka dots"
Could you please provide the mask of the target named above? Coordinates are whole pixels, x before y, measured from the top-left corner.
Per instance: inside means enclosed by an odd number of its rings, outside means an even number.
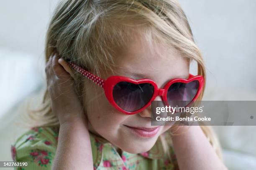
[[[94,74],[91,74],[89,71],[84,70],[83,68],[79,67],[77,64],[75,63],[69,63],[69,65],[75,69],[77,72],[79,72],[80,74],[82,74],[83,76],[86,76],[88,79],[90,79],[91,81],[93,81],[95,84],[103,87],[105,80],[101,79],[98,76],[95,76]]]

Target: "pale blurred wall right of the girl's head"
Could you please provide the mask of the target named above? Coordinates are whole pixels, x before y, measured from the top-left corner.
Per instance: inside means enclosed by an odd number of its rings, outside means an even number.
[[[256,1],[180,3],[205,57],[208,85],[256,91]]]

